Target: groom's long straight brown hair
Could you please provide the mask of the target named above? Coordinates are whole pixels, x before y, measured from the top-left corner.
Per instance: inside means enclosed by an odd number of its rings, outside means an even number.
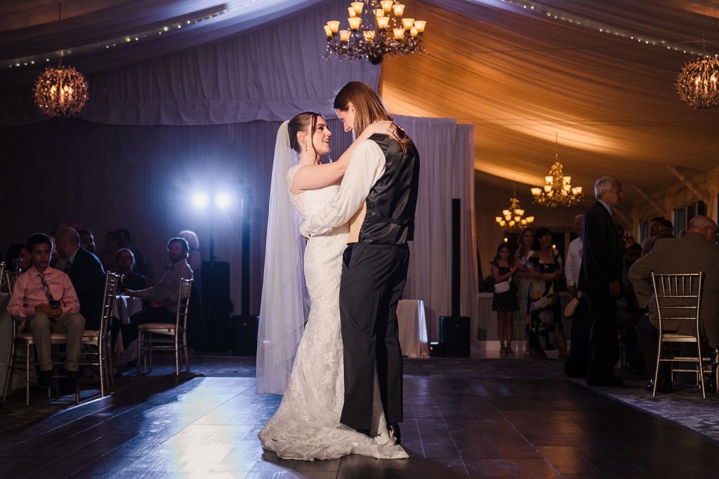
[[[382,103],[382,98],[370,88],[370,85],[358,81],[351,81],[344,85],[334,97],[334,109],[346,111],[349,108],[349,103],[354,106],[354,131],[357,136],[375,121],[393,121]],[[400,147],[406,153],[409,138],[403,129],[397,129],[397,133],[400,137],[398,141]]]

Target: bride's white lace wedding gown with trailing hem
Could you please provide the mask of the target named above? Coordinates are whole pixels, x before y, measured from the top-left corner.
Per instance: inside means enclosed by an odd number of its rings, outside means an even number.
[[[288,170],[288,190],[301,166]],[[307,218],[331,201],[338,189],[333,185],[299,195],[290,192],[290,200],[300,215]],[[285,459],[334,459],[349,454],[387,459],[408,457],[387,430],[377,386],[372,419],[376,437],[367,437],[339,423],[344,403],[339,277],[348,232],[348,226],[342,225],[307,242],[304,269],[312,302],[309,319],[282,403],[257,434],[262,447]]]

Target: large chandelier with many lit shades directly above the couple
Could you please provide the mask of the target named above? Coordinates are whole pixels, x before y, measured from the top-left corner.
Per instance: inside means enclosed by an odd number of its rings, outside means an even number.
[[[423,53],[422,36],[427,22],[403,17],[404,8],[397,0],[353,1],[347,8],[349,30],[340,30],[337,20],[324,26],[324,56],[365,59],[379,65],[385,55]]]

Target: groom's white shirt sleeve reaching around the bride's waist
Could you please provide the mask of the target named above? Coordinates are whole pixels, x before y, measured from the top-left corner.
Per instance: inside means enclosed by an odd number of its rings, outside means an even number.
[[[384,172],[385,154],[380,146],[370,139],[357,144],[339,185],[339,192],[324,208],[300,225],[302,236],[321,235],[347,223],[367,200],[372,186]]]

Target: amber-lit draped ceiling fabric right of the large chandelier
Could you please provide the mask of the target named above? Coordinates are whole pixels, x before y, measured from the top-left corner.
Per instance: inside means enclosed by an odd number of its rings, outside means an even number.
[[[510,0],[407,3],[414,18],[428,21],[427,53],[383,62],[383,98],[390,111],[474,124],[478,171],[541,185],[558,134],[559,159],[573,185],[591,198],[597,177],[615,175],[632,203],[639,199],[633,185],[651,193],[677,183],[667,164],[688,176],[717,164],[719,110],[694,110],[674,92],[677,72],[692,55],[636,41],[701,51],[703,31],[707,52],[719,53],[717,4],[545,0],[523,1],[524,9]],[[559,15],[582,25],[541,9],[564,11]],[[610,33],[599,31],[607,27]],[[635,39],[612,33],[619,29]]]

